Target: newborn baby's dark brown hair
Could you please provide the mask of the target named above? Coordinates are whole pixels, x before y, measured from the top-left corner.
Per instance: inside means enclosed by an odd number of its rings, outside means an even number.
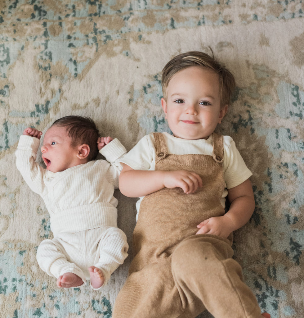
[[[72,140],[71,146],[75,147],[84,143],[89,145],[90,153],[87,159],[88,161],[96,159],[99,132],[95,122],[90,117],[78,115],[65,116],[54,121],[52,126],[65,127],[68,136]]]

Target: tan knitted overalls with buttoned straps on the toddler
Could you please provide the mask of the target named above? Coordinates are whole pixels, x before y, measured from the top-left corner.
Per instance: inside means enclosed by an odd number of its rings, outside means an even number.
[[[200,234],[203,220],[222,216],[223,139],[213,134],[213,156],[168,154],[154,134],[155,170],[187,170],[203,187],[185,194],[164,188],[144,197],[133,233],[134,259],[118,294],[113,318],[194,318],[205,309],[215,318],[257,318],[256,298],[242,281],[229,239]]]

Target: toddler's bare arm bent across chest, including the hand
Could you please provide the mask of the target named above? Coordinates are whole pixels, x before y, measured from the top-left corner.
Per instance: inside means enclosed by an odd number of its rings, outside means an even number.
[[[119,190],[127,197],[142,197],[163,188],[181,188],[193,193],[202,187],[199,175],[189,171],[134,170],[122,163]]]

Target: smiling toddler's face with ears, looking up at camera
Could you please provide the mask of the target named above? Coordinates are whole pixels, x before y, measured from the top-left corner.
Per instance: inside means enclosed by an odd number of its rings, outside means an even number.
[[[162,107],[173,135],[183,139],[207,139],[228,108],[220,107],[218,75],[199,66],[172,77]]]

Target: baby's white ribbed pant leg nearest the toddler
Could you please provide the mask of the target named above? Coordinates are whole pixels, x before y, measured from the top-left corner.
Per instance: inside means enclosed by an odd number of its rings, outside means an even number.
[[[105,286],[111,274],[119,265],[123,264],[128,256],[129,245],[126,235],[117,227],[105,228],[98,245],[94,248],[96,248],[94,266],[102,270],[105,276],[103,286]]]

